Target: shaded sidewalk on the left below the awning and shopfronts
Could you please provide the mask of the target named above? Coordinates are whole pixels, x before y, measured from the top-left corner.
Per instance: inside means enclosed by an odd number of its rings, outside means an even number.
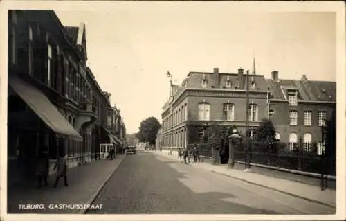
[[[49,209],[49,204],[91,204],[97,194],[118,168],[125,155],[113,160],[98,160],[68,170],[69,186],[60,178],[53,188],[55,176],[48,179],[48,186],[38,189],[37,184],[8,186],[8,213],[84,213],[82,209]],[[19,209],[19,204],[44,204],[44,209]]]

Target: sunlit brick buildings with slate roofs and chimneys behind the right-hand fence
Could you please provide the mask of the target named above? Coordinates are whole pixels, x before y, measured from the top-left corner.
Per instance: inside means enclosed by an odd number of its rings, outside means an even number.
[[[324,148],[322,126],[336,112],[336,82],[281,79],[278,71],[270,79],[249,73],[249,136],[255,137],[262,118],[269,118],[276,139],[287,143],[289,150],[302,142],[305,151],[320,154]],[[170,74],[169,74],[170,76]],[[190,72],[181,85],[170,83],[171,94],[163,107],[162,128],[157,147],[187,147],[205,139],[212,122],[235,125],[246,130],[247,75],[237,73]],[[316,145],[316,149],[313,149]]]

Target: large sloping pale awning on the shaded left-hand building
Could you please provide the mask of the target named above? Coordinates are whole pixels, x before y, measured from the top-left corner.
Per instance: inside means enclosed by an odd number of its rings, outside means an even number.
[[[83,141],[82,136],[66,121],[64,116],[57,110],[57,107],[51,103],[42,91],[14,76],[9,76],[8,84],[55,133]]]

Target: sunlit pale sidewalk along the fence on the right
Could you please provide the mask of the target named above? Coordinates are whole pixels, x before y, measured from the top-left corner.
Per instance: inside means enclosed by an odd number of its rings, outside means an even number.
[[[178,159],[176,153],[173,152],[172,155],[168,155],[168,151],[154,152],[155,154],[169,157],[170,159],[175,159],[176,161],[181,161]],[[246,173],[242,170],[232,170],[228,169],[227,165],[212,165],[210,163],[190,163],[192,166],[197,168],[203,168],[205,170],[210,170],[213,173],[218,173],[221,175],[226,175],[228,177],[233,177],[235,179],[242,180],[247,183],[255,184],[257,186],[262,186],[264,188],[270,188],[275,191],[286,193],[288,195],[293,195],[295,197],[300,197],[304,200],[309,200],[311,202],[316,202],[319,204],[324,204],[331,207],[336,207],[336,191],[327,189],[321,191],[319,186],[312,186],[309,184],[303,184],[300,182],[294,182],[287,179],[279,179],[275,177],[269,177],[266,175],[260,175],[257,173]]]

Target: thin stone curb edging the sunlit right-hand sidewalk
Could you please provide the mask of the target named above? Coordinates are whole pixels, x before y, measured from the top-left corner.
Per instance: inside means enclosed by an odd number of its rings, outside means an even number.
[[[157,154],[157,153],[156,153],[156,154]],[[167,156],[165,156],[164,154],[158,154],[158,155],[161,155],[161,156],[163,156],[163,157],[167,157]],[[170,157],[167,157],[167,158],[170,158]],[[204,170],[209,170],[209,169],[204,168]],[[270,190],[272,190],[272,191],[277,191],[277,192],[280,192],[280,193],[284,193],[284,194],[286,194],[286,195],[291,195],[291,196],[293,196],[293,197],[298,197],[298,198],[300,198],[300,199],[302,199],[302,200],[307,200],[307,201],[309,201],[309,202],[314,202],[314,203],[316,203],[316,204],[321,204],[321,205],[323,205],[323,206],[328,206],[328,207],[331,207],[331,208],[336,208],[336,205],[334,205],[334,204],[329,204],[329,203],[326,203],[326,202],[320,202],[320,201],[318,201],[318,200],[313,200],[313,199],[310,199],[310,198],[307,198],[307,197],[302,197],[301,195],[296,195],[296,194],[294,194],[294,193],[289,193],[289,192],[286,192],[286,191],[282,191],[282,190],[277,189],[277,188],[273,188],[273,187],[270,187],[270,186],[264,186],[264,185],[262,185],[262,184],[257,184],[257,183],[255,183],[255,182],[248,181],[247,179],[242,179],[242,178],[239,178],[239,177],[235,177],[235,176],[232,176],[232,175],[228,175],[228,174],[226,174],[226,173],[217,172],[217,171],[215,171],[215,170],[213,170],[213,169],[211,169],[211,170],[209,170],[209,171],[212,172],[212,173],[217,173],[217,174],[219,174],[219,175],[224,175],[224,176],[226,176],[226,177],[231,177],[231,178],[233,178],[233,179],[238,179],[238,180],[240,180],[240,181],[242,181],[242,182],[246,182],[246,183],[248,183],[248,184],[253,184],[253,185],[256,185],[256,186],[261,186],[261,187],[263,187],[263,188],[268,188],[268,189],[270,189]]]

